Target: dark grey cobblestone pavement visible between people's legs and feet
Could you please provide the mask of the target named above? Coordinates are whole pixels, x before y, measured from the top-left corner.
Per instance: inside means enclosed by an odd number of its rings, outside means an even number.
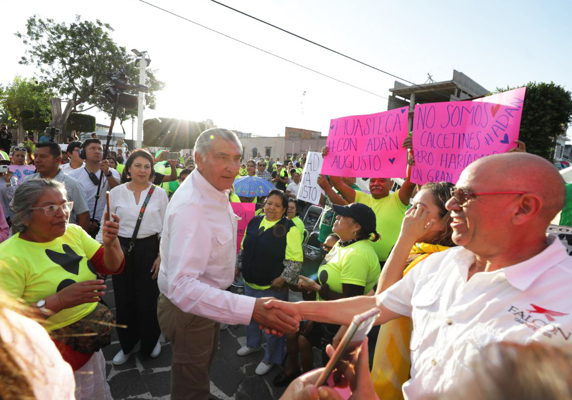
[[[105,302],[115,311],[112,280],[108,277]],[[241,292],[242,290],[237,290]],[[291,300],[300,295],[291,292]],[[112,359],[120,350],[117,333],[112,344],[104,348],[107,380],[114,399],[170,399],[170,363],[172,351],[168,340],[161,335],[161,354],[150,358],[137,353],[123,365],[113,365]],[[272,385],[272,379],[281,371],[280,366],[260,377],[255,374],[264,351],[240,357],[236,351],[246,344],[246,328],[243,325],[229,326],[220,332],[219,351],[210,369],[210,393],[220,400],[266,400],[278,399],[285,388]],[[314,351],[316,366],[321,363],[320,354]]]

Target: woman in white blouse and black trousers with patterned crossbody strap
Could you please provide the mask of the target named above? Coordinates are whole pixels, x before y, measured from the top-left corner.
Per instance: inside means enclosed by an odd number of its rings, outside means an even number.
[[[113,358],[115,365],[126,362],[140,348],[142,354],[151,357],[161,353],[156,278],[161,263],[159,240],[169,203],[164,189],[149,181],[153,177],[153,157],[148,151],[138,149],[131,153],[125,163],[125,172],[131,181],[110,191],[111,212],[121,221],[119,241],[125,249],[130,247],[141,212],[143,217],[134,245],[126,253],[123,272],[113,275],[117,324],[127,326],[117,328],[121,350]],[[101,240],[101,231],[97,238]]]

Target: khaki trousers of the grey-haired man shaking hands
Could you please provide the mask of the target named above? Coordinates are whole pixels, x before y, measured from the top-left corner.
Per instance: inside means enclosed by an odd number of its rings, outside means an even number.
[[[157,319],[173,349],[171,398],[208,400],[209,369],[219,348],[220,324],[181,311],[163,294],[159,295]]]

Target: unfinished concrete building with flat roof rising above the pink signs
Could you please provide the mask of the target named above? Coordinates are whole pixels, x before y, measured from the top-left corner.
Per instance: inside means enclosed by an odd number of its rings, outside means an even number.
[[[387,102],[387,109],[392,110],[408,106],[410,131],[413,128],[415,104],[468,100],[489,93],[483,86],[457,70],[453,70],[453,78],[450,81],[431,82],[419,86],[408,86],[395,81],[395,87],[390,89],[390,92],[391,96]]]

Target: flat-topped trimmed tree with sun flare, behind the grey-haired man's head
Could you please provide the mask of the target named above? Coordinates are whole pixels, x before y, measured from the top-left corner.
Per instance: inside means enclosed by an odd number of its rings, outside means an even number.
[[[167,147],[172,151],[194,148],[204,130],[215,126],[212,120],[187,121],[176,118],[152,118],[143,121],[143,144]]]

